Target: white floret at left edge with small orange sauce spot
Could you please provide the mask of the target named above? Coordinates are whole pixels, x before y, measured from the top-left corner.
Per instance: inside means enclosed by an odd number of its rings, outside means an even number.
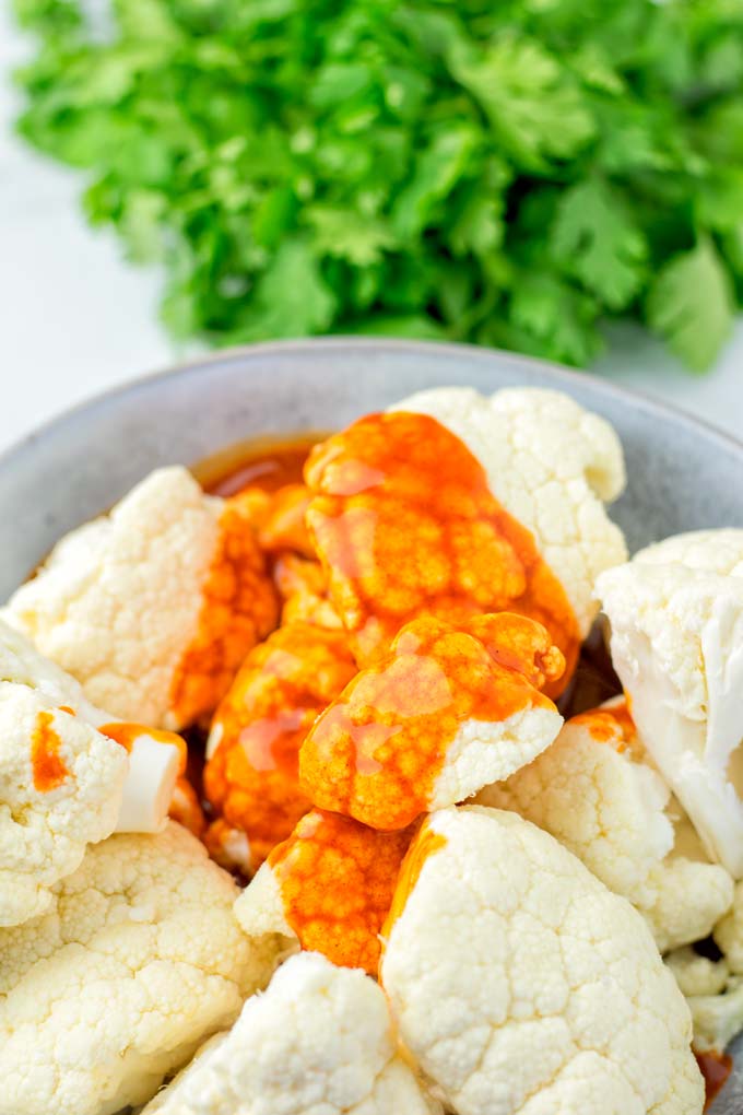
[[[9,927],[48,910],[53,884],[114,831],[128,764],[86,719],[100,714],[78,683],[4,623],[0,677],[0,927]]]

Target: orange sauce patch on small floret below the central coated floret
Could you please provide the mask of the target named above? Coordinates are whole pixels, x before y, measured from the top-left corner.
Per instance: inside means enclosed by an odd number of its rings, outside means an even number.
[[[303,949],[375,976],[410,830],[380,833],[314,809],[268,856]]]

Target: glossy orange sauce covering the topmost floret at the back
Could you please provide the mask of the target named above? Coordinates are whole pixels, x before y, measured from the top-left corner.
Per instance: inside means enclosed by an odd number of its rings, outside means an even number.
[[[498,503],[467,446],[428,415],[380,414],[316,446],[307,523],[360,663],[421,614],[511,611],[542,623],[567,669],[580,633],[534,536]]]

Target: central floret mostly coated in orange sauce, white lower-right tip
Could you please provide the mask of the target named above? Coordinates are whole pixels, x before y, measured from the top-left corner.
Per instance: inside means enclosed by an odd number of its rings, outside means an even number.
[[[460,629],[413,620],[310,730],[302,785],[320,808],[403,828],[549,746],[563,720],[537,687],[563,665],[545,629],[521,615]]]

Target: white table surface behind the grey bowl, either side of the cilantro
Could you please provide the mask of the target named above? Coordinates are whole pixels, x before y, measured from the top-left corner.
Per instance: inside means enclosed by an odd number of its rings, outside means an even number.
[[[26,43],[0,0],[0,450],[39,423],[178,359],[157,319],[158,275],[129,266],[81,216],[81,178],[11,132],[9,71]],[[706,377],[639,329],[617,330],[598,370],[743,437],[743,320]]]

